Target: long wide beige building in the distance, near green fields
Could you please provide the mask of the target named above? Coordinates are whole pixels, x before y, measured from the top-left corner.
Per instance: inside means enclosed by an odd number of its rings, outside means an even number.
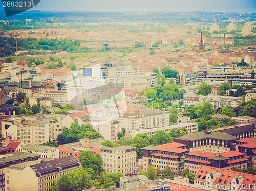
[[[132,40],[87,40],[83,41],[80,46],[100,50],[103,48],[134,47],[135,42]]]

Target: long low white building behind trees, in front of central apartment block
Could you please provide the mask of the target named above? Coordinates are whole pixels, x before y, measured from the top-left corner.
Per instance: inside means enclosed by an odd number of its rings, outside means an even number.
[[[172,129],[185,128],[188,133],[194,133],[198,131],[198,124],[195,122],[178,123],[174,125],[160,126],[154,128],[142,128],[138,130],[132,130],[131,137],[135,137],[137,134],[145,133],[152,137],[157,131],[170,132]],[[127,136],[127,135],[126,135]]]

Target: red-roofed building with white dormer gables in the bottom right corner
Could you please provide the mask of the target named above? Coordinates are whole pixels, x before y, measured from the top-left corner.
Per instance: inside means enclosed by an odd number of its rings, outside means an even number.
[[[202,165],[195,177],[195,186],[218,190],[256,190],[255,175]]]

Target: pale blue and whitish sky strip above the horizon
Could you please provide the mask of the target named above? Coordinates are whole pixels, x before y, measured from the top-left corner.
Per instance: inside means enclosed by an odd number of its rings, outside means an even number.
[[[256,12],[256,0],[41,0],[31,10],[100,12]]]

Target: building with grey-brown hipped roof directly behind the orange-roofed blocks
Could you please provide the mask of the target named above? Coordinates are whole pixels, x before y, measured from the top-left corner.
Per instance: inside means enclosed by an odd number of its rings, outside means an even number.
[[[175,138],[174,141],[187,145],[189,152],[205,151],[222,153],[230,151],[230,145],[233,144],[237,139],[237,137],[227,133],[205,130],[185,134],[179,138]]]

